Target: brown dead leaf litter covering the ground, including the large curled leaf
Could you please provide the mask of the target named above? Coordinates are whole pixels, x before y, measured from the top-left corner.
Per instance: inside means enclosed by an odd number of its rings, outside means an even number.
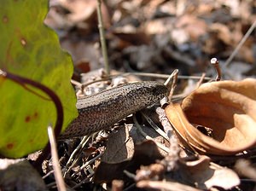
[[[137,114],[150,141],[143,141],[145,137],[129,116],[115,124],[109,136],[101,132],[85,137],[82,146],[81,139],[59,142],[60,165],[67,188],[115,190],[119,187],[116,180],[121,180],[119,190],[255,188],[256,90],[255,80],[246,79],[255,77],[255,30],[230,65],[224,66],[224,61],[253,25],[256,4],[230,2],[111,0],[102,3],[112,69],[160,74],[179,70],[172,103],[166,107],[166,116],[161,116],[169,119],[174,130],[170,130],[167,119],[163,122],[150,111],[150,119],[164,126],[170,140],[155,134],[148,128],[146,119]],[[62,47],[73,56],[73,78],[79,79],[81,72],[102,68],[96,1],[51,0],[49,3],[45,23],[55,29]],[[216,74],[209,66],[213,56],[220,61],[223,80],[208,82],[202,78],[196,84],[203,73],[214,80]],[[182,76],[199,78],[188,80]],[[97,77],[104,78],[102,73]],[[125,81],[147,79],[152,77],[125,77]],[[106,87],[111,83],[97,85]],[[97,85],[92,84],[89,89],[85,85],[84,90],[94,91]],[[154,142],[169,150],[163,151]],[[44,181],[55,182],[50,173],[51,159],[45,160],[43,167]],[[55,190],[51,183],[49,190]]]

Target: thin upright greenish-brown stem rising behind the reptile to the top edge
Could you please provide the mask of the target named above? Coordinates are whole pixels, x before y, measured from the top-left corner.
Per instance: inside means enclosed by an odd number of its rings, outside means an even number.
[[[106,40],[105,40],[105,31],[103,28],[103,22],[102,22],[102,9],[101,9],[101,5],[102,5],[102,0],[97,0],[97,17],[98,17],[98,28],[100,31],[100,39],[101,39],[101,44],[102,44],[102,55],[103,55],[103,59],[104,59],[104,66],[105,66],[105,70],[107,75],[110,74],[109,71],[109,64],[108,64],[108,53],[107,53],[107,46],[106,46]]]

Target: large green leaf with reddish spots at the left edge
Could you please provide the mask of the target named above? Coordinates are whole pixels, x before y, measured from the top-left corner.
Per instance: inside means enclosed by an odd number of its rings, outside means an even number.
[[[44,26],[47,0],[2,0],[0,6],[0,68],[46,85],[60,97],[64,127],[78,112],[70,78],[71,56],[61,50],[55,32]],[[20,158],[44,148],[47,126],[55,125],[53,101],[43,92],[0,77],[0,154]]]

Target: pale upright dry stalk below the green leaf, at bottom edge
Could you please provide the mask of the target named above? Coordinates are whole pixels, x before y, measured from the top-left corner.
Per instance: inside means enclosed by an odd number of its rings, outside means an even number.
[[[65,182],[63,180],[62,174],[61,174],[61,167],[59,165],[59,157],[57,153],[57,147],[56,147],[56,140],[54,136],[54,131],[52,130],[52,127],[49,125],[48,127],[48,136],[49,136],[49,144],[50,144],[50,153],[52,156],[52,163],[53,163],[53,169],[54,169],[54,175],[55,175],[55,181],[57,184],[57,188],[59,191],[66,191]]]

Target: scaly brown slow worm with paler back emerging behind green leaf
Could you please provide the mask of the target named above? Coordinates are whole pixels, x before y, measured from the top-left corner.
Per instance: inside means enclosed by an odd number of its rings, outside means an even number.
[[[106,130],[131,113],[153,105],[166,96],[164,84],[154,81],[124,84],[77,101],[79,117],[74,119],[59,139],[85,136]]]

